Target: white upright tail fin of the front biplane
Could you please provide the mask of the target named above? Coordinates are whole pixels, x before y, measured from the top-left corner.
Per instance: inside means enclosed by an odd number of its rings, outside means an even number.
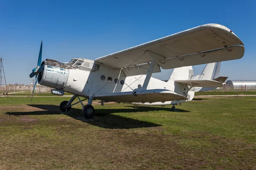
[[[186,79],[191,80],[194,77],[193,68],[192,66],[180,67],[175,68],[172,72],[171,77],[169,78],[168,82],[174,82],[178,79]]]

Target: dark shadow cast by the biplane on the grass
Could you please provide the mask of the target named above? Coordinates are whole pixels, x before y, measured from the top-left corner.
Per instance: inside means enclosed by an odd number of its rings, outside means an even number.
[[[26,115],[55,115],[65,114],[72,117],[73,119],[87,122],[88,124],[95,125],[98,127],[109,128],[109,129],[131,129],[140,127],[158,127],[161,126],[156,123],[141,121],[137,119],[127,118],[111,113],[132,113],[132,112],[149,112],[149,111],[169,111],[169,108],[157,108],[157,107],[137,107],[127,109],[96,109],[95,116],[91,121],[81,119],[81,109],[72,108],[69,113],[60,112],[59,106],[57,105],[29,105],[31,107],[40,108],[44,111],[31,111],[31,112],[6,112],[5,114],[13,116],[26,116]],[[180,110],[180,112],[189,112]]]

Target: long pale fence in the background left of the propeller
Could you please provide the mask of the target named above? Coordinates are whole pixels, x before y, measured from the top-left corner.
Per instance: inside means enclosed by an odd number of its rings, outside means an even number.
[[[33,85],[7,85],[8,94],[31,94]],[[51,93],[51,89],[44,85],[36,85],[34,93]],[[2,86],[1,94],[6,94],[6,86]]]

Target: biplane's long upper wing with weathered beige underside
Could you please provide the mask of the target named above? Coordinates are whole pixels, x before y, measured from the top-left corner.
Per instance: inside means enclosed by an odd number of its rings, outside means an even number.
[[[238,46],[234,46],[238,45]],[[155,54],[163,69],[239,59],[243,42],[230,29],[219,24],[205,24],[154,41],[146,42],[96,59],[113,68],[132,67],[151,61]]]

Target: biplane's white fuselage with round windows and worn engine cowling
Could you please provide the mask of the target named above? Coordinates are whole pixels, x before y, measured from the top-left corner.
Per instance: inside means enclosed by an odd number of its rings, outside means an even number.
[[[126,77],[120,69],[110,68],[90,59],[84,59],[82,65],[72,65],[72,61],[65,64],[52,59],[47,59],[42,64],[44,64],[44,70],[39,75],[39,84],[82,97],[89,97],[93,94],[134,91],[134,89],[143,86],[146,77],[145,75]],[[147,90],[166,89],[187,96],[189,100],[132,104],[169,105],[190,101],[194,96],[194,91],[191,89],[188,94],[185,94],[188,88],[187,85],[174,81],[163,82],[151,77]]]

